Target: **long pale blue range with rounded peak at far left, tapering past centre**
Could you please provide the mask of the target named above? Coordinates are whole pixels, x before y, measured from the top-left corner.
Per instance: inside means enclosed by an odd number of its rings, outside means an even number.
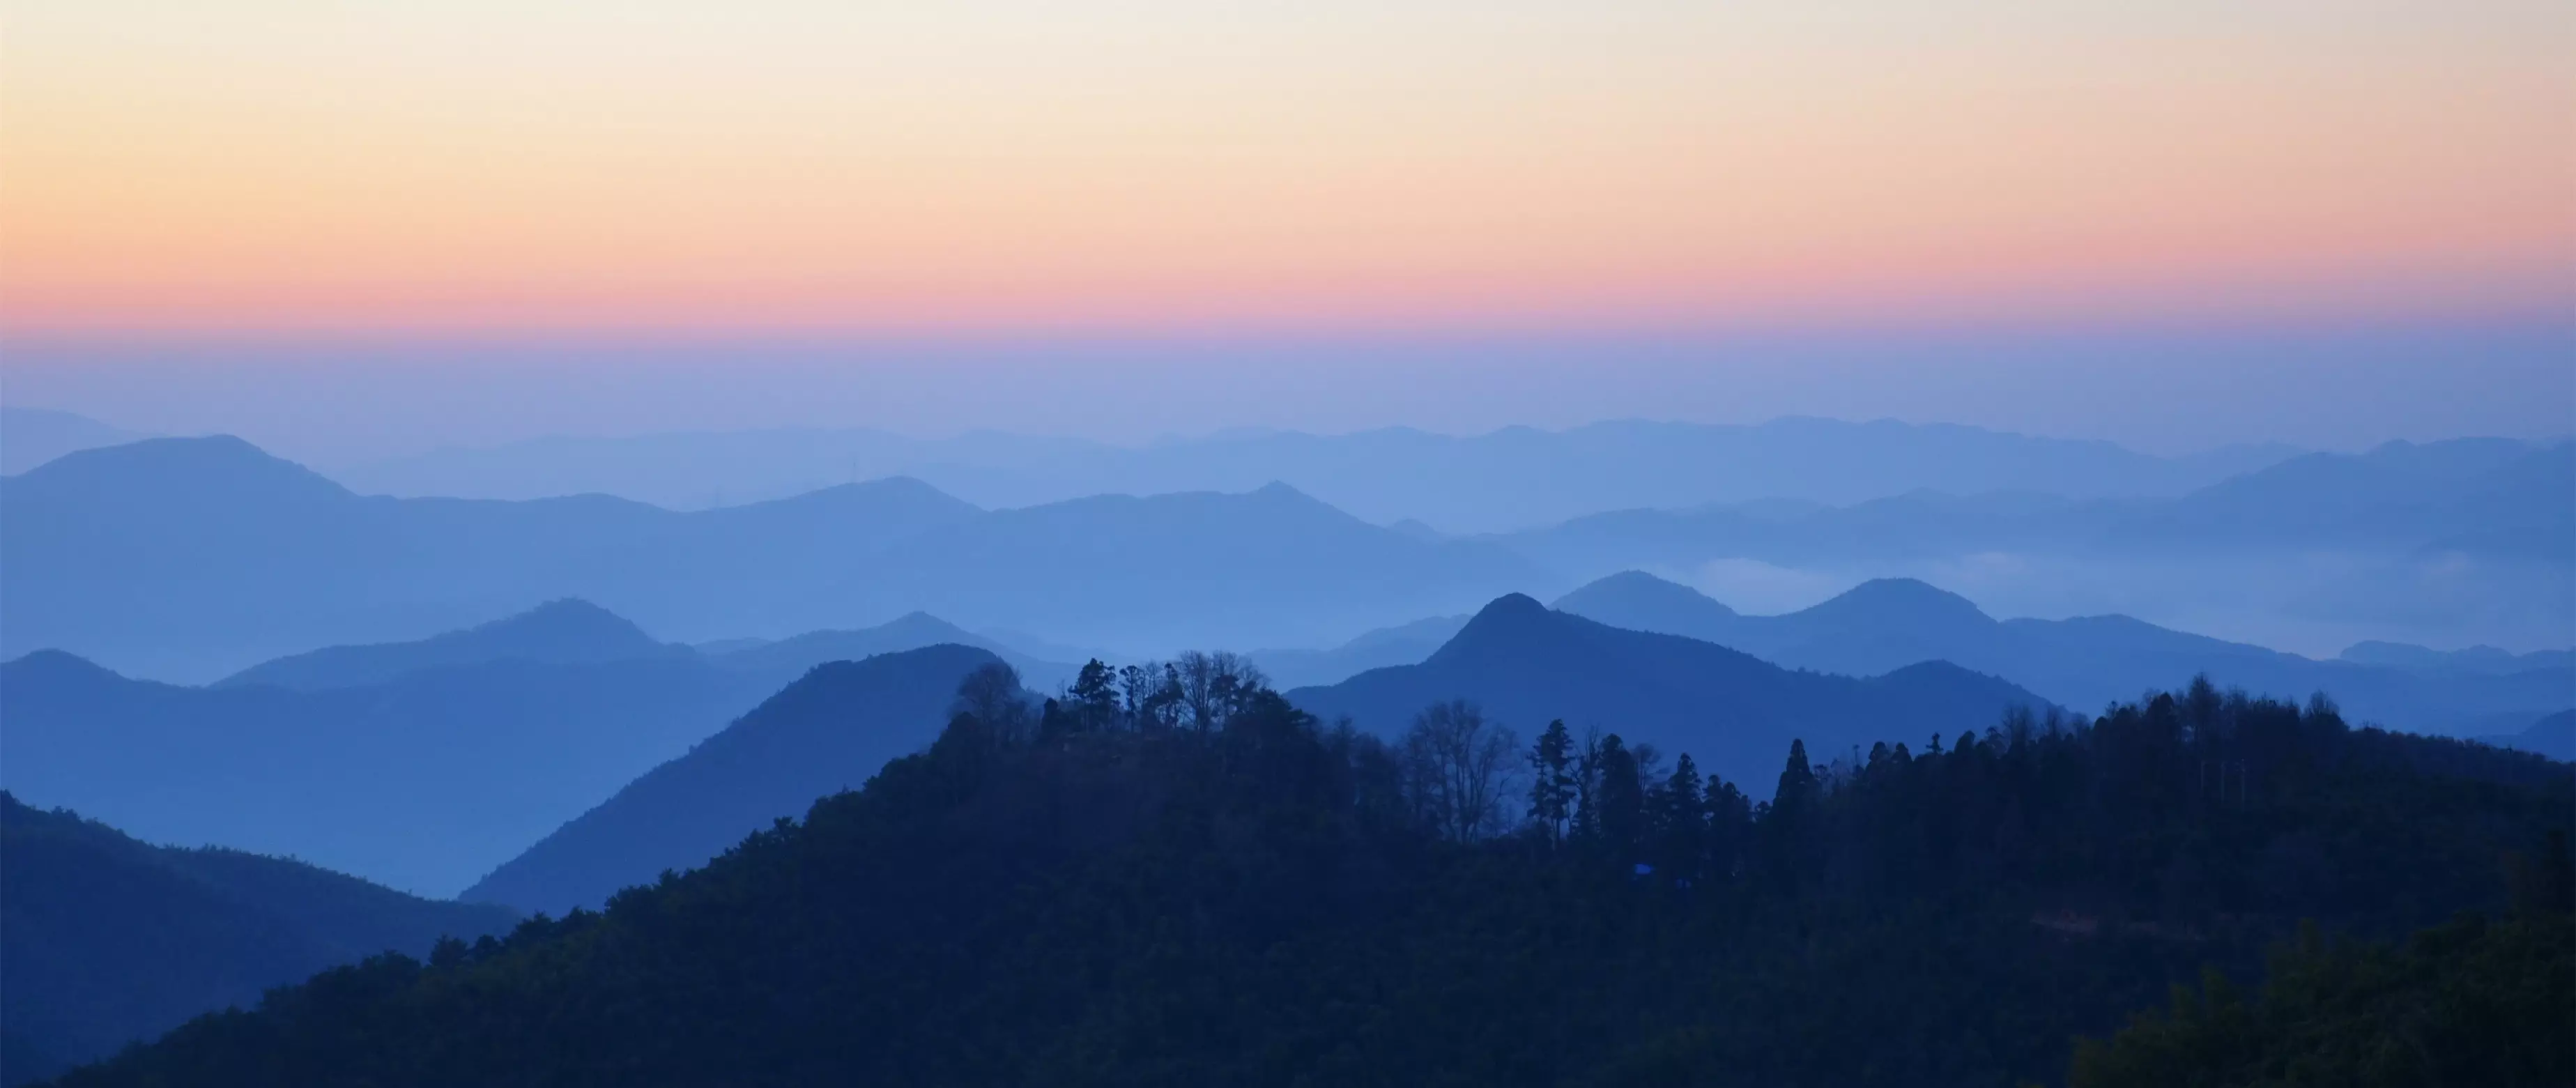
[[[1319,642],[1556,583],[1502,547],[1412,539],[1291,487],[987,513],[878,480],[672,513],[361,498],[237,438],[160,438],[0,480],[0,652],[209,681],[549,598],[680,642],[933,611],[1151,650]]]

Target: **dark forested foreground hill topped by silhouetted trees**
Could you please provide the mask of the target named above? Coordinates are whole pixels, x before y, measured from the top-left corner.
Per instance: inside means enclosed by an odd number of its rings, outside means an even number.
[[[2094,722],[1891,719],[1844,771],[1793,745],[1759,807],[1615,735],[1499,745],[1473,706],[1381,743],[1260,686],[1190,704],[1105,675],[1043,714],[987,699],[603,913],[325,972],[62,1083],[2058,1083],[2076,1036],[2205,967],[2251,987],[2300,918],[2571,926],[2566,882],[2527,879],[2563,871],[2532,864],[2576,812],[2563,763],[2326,704],[2195,686]],[[2566,941],[2514,949],[2576,972]],[[2537,1029],[2406,1042],[2566,1083],[2555,995],[2491,993]],[[2365,1031],[2318,1047],[2372,1036],[2362,1005],[2329,1021]],[[2087,1083],[2241,1083],[2197,1026],[2089,1049]]]

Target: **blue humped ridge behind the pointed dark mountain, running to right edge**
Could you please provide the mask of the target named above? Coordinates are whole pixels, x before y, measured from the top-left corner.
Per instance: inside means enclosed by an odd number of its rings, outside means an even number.
[[[2576,704],[2576,668],[2563,655],[2532,655],[2540,668],[2496,673],[2321,663],[2128,616],[1996,621],[1963,596],[1906,578],[1862,583],[1783,616],[1744,616],[1687,585],[1643,572],[1602,578],[1556,606],[1602,624],[1708,639],[1824,673],[1878,675],[1919,660],[1947,660],[2076,709],[2133,699],[2195,673],[2282,699],[2326,691],[2357,722],[2419,732],[2460,732],[2491,714],[2545,714]]]

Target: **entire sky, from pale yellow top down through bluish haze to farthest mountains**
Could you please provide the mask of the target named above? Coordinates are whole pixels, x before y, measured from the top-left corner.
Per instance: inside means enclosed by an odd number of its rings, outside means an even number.
[[[2561,0],[18,0],[0,394],[2563,433],[2571,54]],[[2342,431],[2195,423],[2318,374]]]

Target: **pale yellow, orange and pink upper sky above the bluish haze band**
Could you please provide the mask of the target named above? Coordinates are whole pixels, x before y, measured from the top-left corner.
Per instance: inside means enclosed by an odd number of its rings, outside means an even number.
[[[2555,0],[33,0],[0,322],[2563,315],[2571,54]]]

